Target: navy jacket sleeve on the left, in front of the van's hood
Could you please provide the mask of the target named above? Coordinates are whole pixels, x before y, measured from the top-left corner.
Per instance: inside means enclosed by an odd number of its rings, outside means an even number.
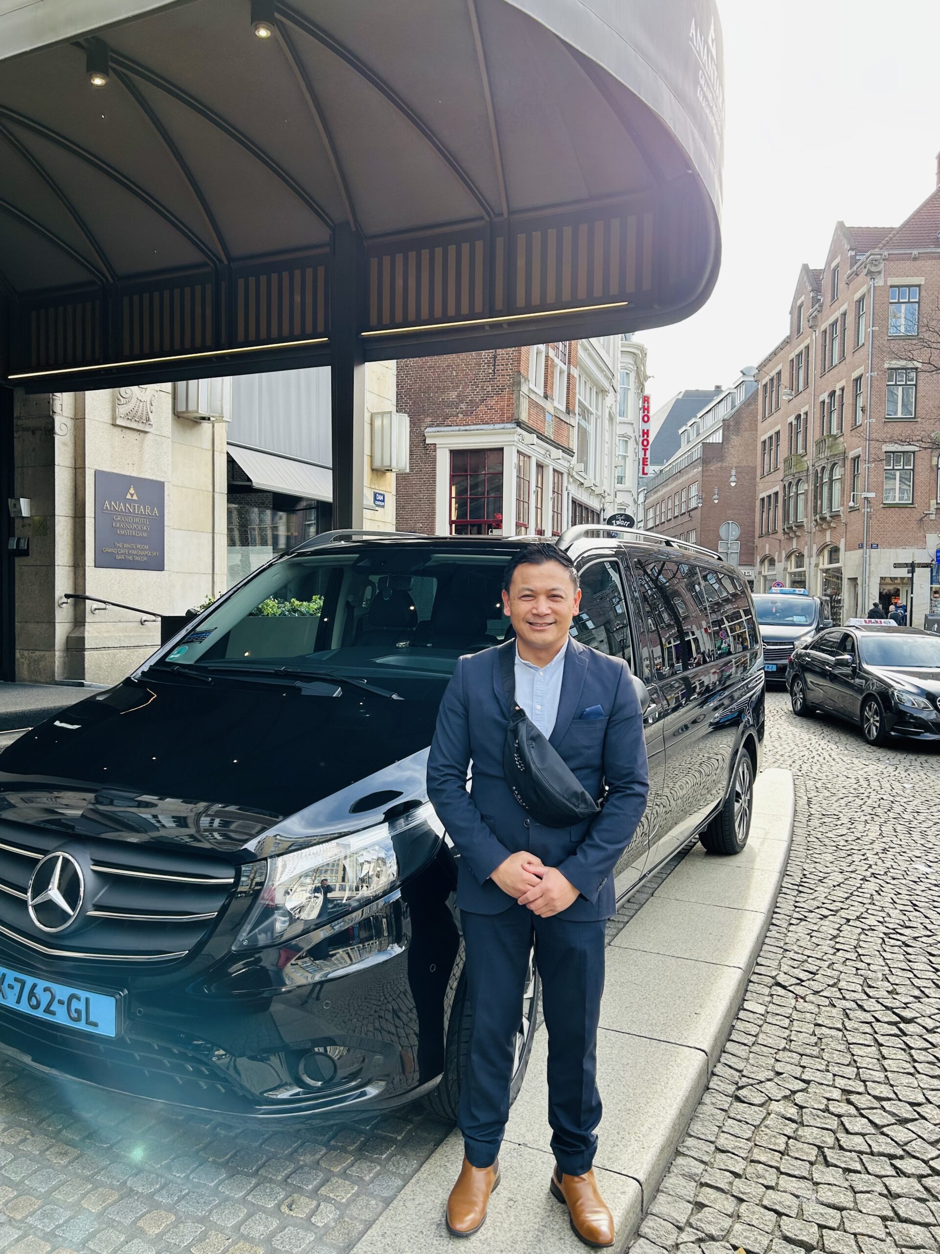
[[[483,821],[466,790],[469,765],[470,722],[461,657],[437,712],[427,757],[427,796],[474,879],[483,884],[509,858],[509,850]]]

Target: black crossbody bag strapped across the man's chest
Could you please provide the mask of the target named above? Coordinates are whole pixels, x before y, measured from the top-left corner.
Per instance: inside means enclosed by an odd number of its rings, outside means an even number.
[[[503,771],[513,796],[546,828],[593,818],[600,806],[515,700],[515,641],[500,646],[499,672],[509,705]]]

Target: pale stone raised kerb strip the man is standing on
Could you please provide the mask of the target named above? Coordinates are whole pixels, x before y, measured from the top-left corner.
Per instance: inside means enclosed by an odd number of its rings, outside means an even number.
[[[786,868],[792,798],[790,771],[761,775],[747,849],[716,858],[696,845],[608,951],[598,1033],[604,1119],[594,1166],[617,1223],[617,1249],[635,1231],[741,1004]],[[579,1248],[548,1193],[546,1045],[540,1028],[500,1154],[503,1183],[474,1254]],[[444,1204],[461,1156],[452,1132],[355,1254],[411,1254],[419,1245],[422,1254],[452,1254]]]

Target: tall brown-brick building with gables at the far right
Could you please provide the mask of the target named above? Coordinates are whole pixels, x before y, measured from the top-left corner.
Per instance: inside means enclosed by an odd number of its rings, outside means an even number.
[[[896,229],[837,223],[758,366],[757,587],[827,594],[836,621],[896,591],[910,603],[896,563],[940,545],[939,231],[940,187]],[[912,593],[922,626],[935,564]]]

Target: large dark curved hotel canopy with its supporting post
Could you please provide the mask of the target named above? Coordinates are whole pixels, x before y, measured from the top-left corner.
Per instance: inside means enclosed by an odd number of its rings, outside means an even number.
[[[0,10],[0,377],[328,365],[338,525],[365,361],[663,326],[714,285],[714,0]]]

